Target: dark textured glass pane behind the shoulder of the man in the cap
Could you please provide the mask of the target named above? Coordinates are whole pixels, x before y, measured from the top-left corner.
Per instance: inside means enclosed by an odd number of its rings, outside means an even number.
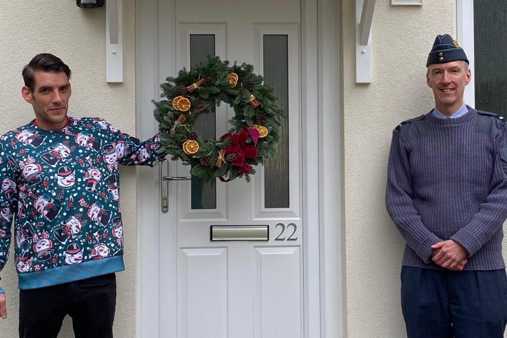
[[[476,108],[507,117],[505,13],[505,0],[474,1],[475,74],[472,75],[475,76]]]

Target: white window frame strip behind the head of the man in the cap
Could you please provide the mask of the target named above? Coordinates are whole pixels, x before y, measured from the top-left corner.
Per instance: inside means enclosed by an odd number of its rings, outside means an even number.
[[[475,48],[474,48],[474,0],[455,0],[454,3],[456,41],[468,58],[472,79],[465,87],[463,100],[475,108]]]

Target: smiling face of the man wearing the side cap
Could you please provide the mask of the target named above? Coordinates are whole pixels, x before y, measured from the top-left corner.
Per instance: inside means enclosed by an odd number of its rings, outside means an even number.
[[[433,90],[435,106],[452,114],[463,105],[463,92],[470,82],[470,70],[464,61],[429,65],[426,83]]]

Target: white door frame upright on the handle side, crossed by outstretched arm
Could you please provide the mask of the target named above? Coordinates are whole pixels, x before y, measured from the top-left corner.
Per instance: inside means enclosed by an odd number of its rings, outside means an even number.
[[[151,100],[158,94],[157,0],[135,2],[136,26],[136,136],[147,139],[157,131],[157,121],[142,118],[153,111]],[[150,170],[152,169],[152,170]],[[160,171],[160,168],[156,170]],[[159,336],[159,177],[153,168],[136,167],[137,205],[137,299],[136,336]]]

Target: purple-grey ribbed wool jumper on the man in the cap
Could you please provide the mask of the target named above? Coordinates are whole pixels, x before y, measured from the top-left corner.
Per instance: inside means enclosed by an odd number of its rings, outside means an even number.
[[[406,241],[403,265],[443,269],[431,245],[453,239],[467,251],[463,270],[505,268],[507,124],[468,112],[440,119],[429,112],[392,133],[386,207]]]

